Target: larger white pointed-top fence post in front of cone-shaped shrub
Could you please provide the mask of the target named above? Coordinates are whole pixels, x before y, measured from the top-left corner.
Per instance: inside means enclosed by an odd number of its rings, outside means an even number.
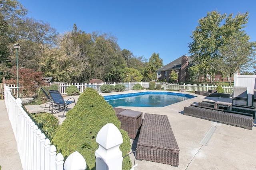
[[[98,132],[96,142],[99,144],[95,151],[96,170],[121,170],[123,158],[119,147],[123,138],[118,128],[112,123],[106,124]]]

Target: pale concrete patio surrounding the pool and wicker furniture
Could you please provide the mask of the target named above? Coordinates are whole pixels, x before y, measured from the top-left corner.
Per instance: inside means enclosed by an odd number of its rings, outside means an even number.
[[[104,96],[131,92],[138,91],[129,90],[118,93],[101,93],[100,95]],[[196,94],[192,95],[197,97],[166,107],[120,107],[142,111],[143,115],[144,113],[167,115],[180,149],[178,167],[145,160],[135,160],[135,164],[138,164],[135,170],[256,169],[256,161],[254,158],[256,155],[256,121],[254,120],[253,129],[247,130],[186,116],[183,114],[184,107],[190,106],[190,104],[198,104],[198,102],[202,102],[202,100],[232,101],[232,98],[213,98]],[[70,97],[64,97],[64,99],[67,98]],[[74,98],[76,101],[78,100],[78,96],[74,96]],[[44,104],[42,106],[44,106]],[[68,109],[71,109],[73,106],[74,104],[70,105]],[[58,117],[58,115],[62,114],[63,112],[59,112],[54,115]],[[65,117],[58,117],[58,119],[60,123],[62,123]],[[216,127],[216,131],[213,133],[208,143],[201,144],[212,127]],[[131,152],[136,149],[137,140],[138,135],[134,140],[130,140],[132,144]],[[0,151],[2,151],[2,149]],[[132,164],[134,164],[133,153],[130,154],[130,158]]]

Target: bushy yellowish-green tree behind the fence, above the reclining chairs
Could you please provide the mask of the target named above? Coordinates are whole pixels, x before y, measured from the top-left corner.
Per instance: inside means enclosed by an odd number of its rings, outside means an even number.
[[[80,82],[82,73],[88,68],[87,61],[80,55],[80,47],[71,37],[71,32],[59,35],[58,46],[46,49],[40,62],[45,75],[59,82]]]

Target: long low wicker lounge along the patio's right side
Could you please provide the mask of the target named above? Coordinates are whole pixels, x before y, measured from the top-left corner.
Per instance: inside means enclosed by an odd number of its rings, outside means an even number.
[[[190,115],[210,121],[216,121],[228,125],[242,127],[252,130],[253,117],[250,113],[241,113],[236,111],[227,111],[205,106],[190,105],[184,107],[184,115]]]

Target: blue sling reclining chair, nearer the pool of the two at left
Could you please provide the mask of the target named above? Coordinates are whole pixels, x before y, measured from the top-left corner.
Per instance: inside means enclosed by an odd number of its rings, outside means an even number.
[[[63,115],[58,115],[60,117],[66,117],[65,112],[66,112],[68,105],[70,105],[72,103],[74,103],[76,105],[76,101],[74,98],[69,98],[68,100],[64,100],[58,90],[48,90],[48,92],[49,92],[50,96],[52,97],[54,104],[58,104],[58,106],[59,106],[58,109],[64,108]],[[74,101],[69,101],[71,99],[73,99]],[[62,106],[62,107],[60,107],[60,106]],[[52,105],[51,113],[53,113],[53,109],[54,109],[54,105]]]

